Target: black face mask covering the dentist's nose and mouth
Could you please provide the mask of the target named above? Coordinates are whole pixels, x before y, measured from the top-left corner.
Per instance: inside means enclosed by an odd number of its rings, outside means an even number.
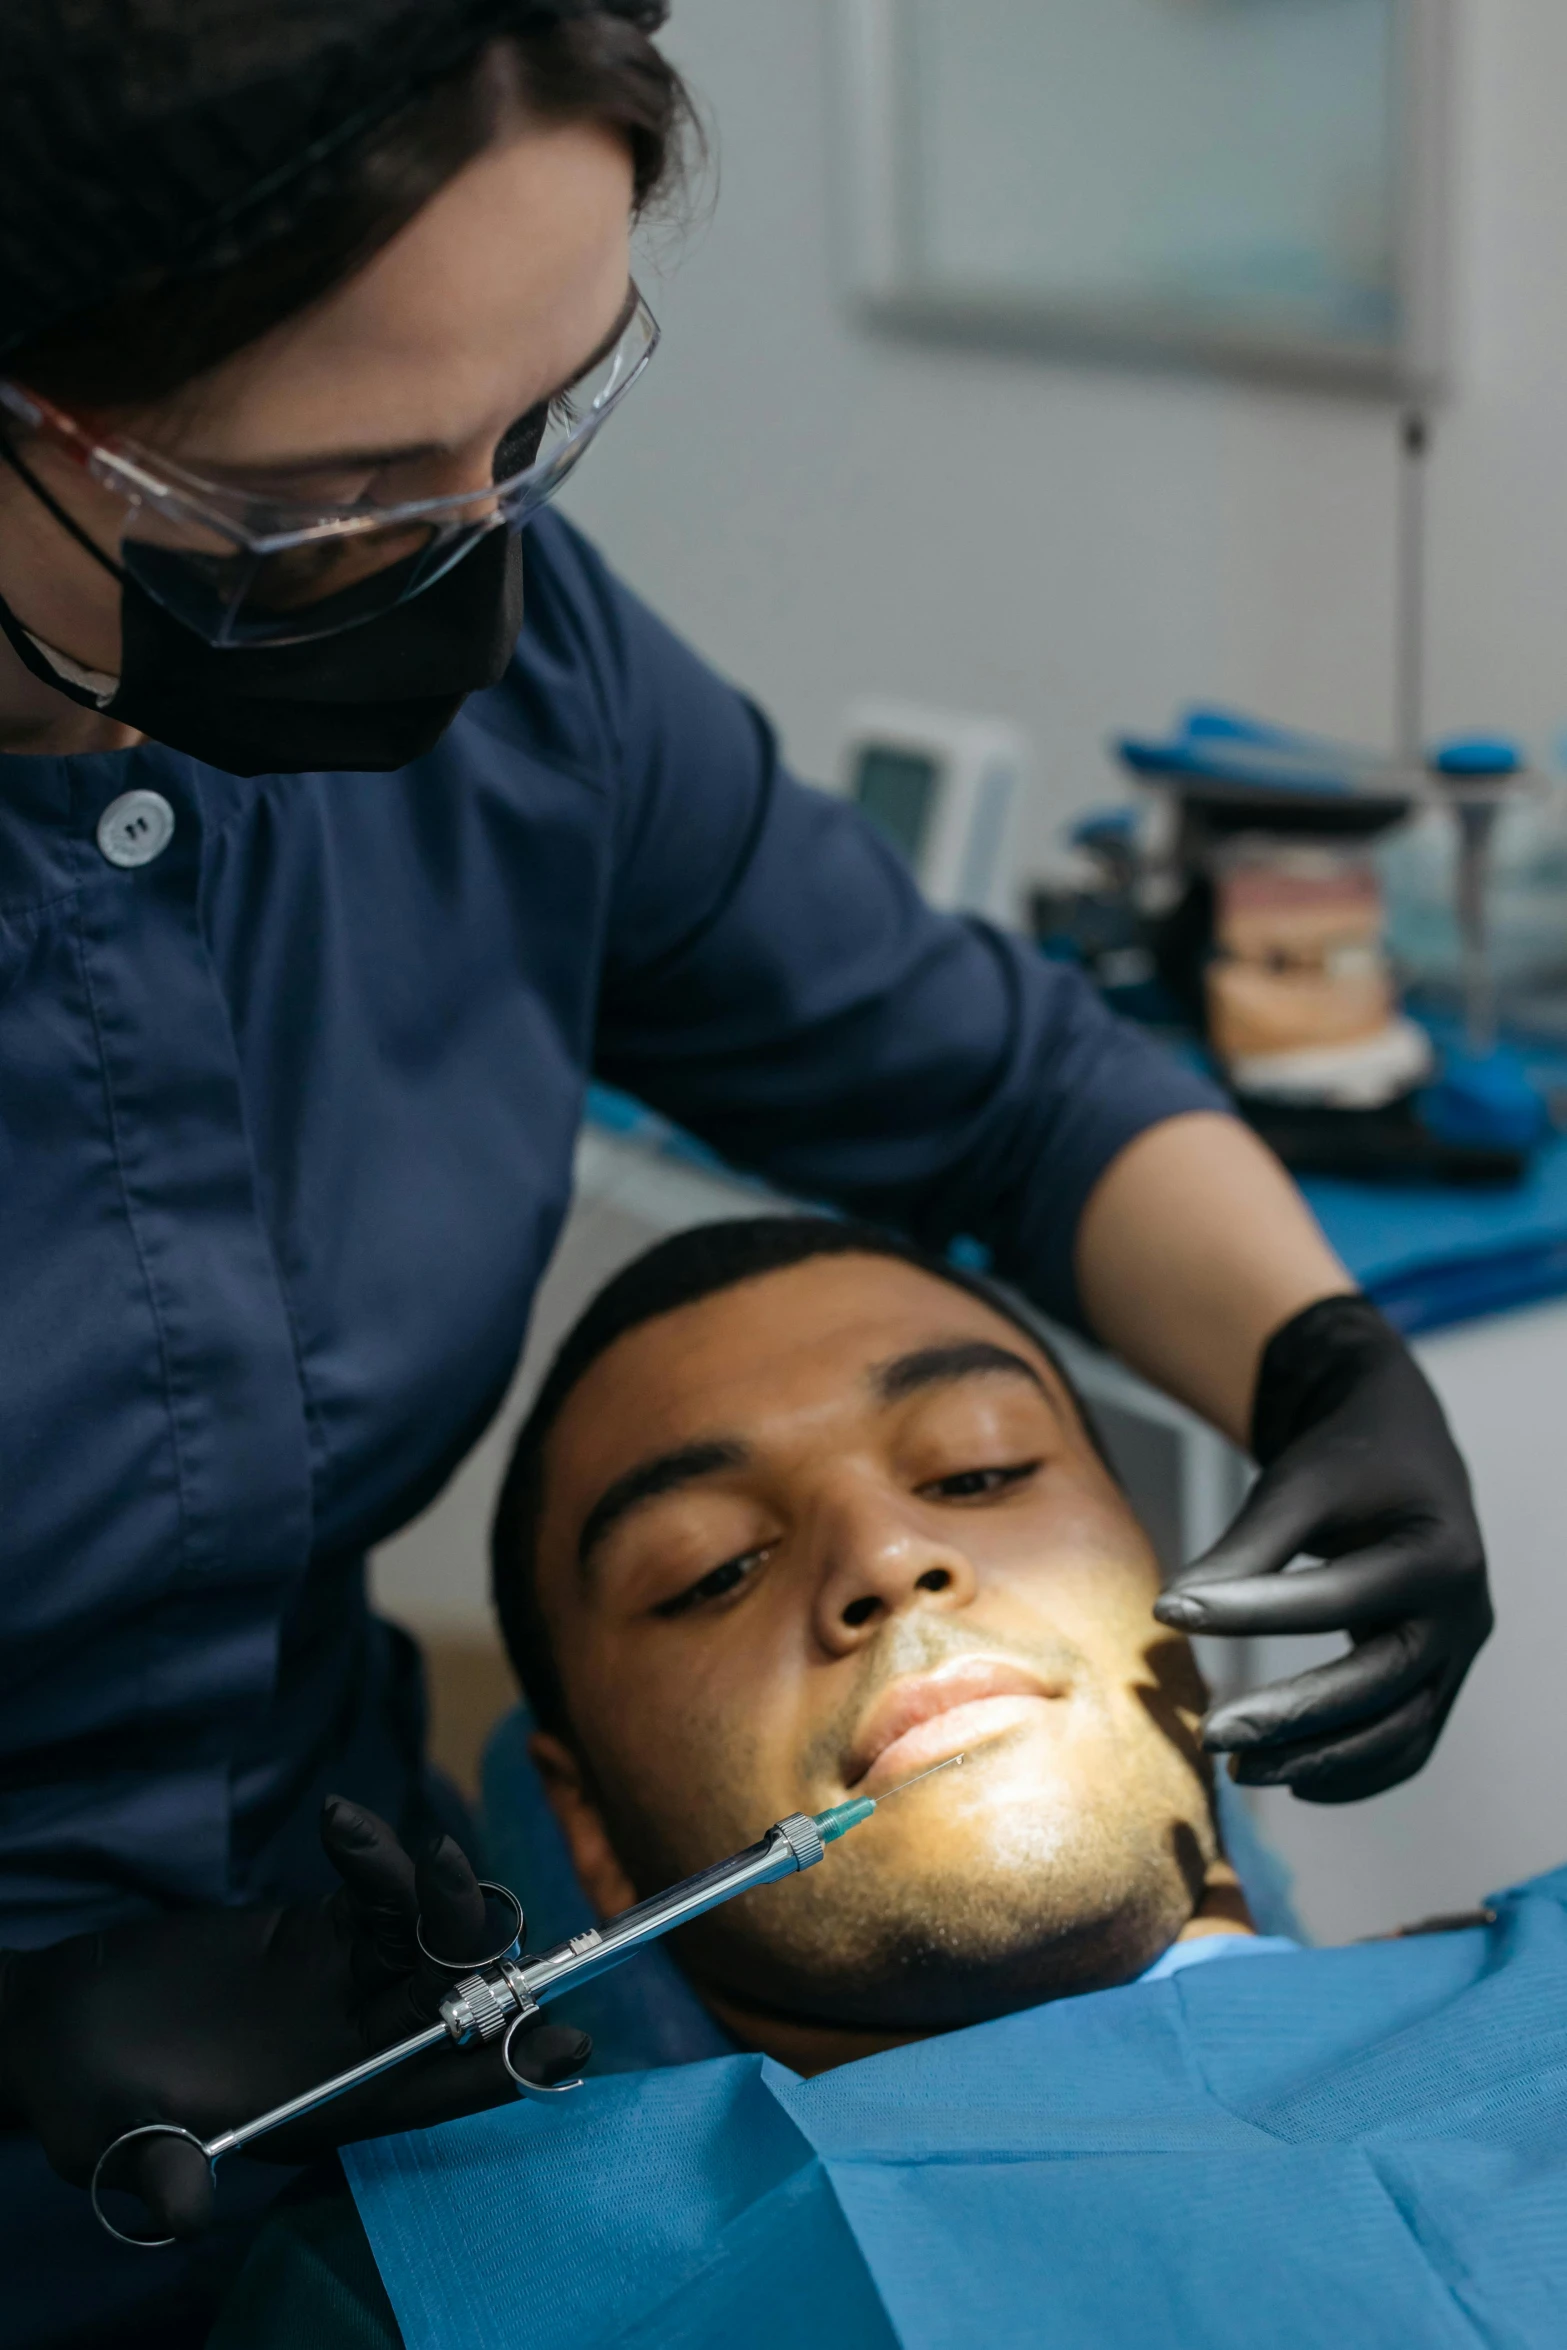
[[[0,449],[56,519],[80,531]],[[446,733],[470,693],[496,686],[522,627],[522,540],[489,531],[406,604],[310,644],[214,649],[134,578],[120,580],[120,684],[103,703],[54,667],[0,599],[0,632],[47,686],[228,776],[406,766]]]

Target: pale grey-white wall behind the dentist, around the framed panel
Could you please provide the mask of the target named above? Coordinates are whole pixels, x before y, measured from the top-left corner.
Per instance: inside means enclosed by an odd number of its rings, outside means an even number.
[[[1041,750],[1029,855],[1118,790],[1104,740],[1191,696],[1386,738],[1384,409],[876,336],[839,298],[834,0],[677,0],[712,223],[573,510],[825,776],[909,693]],[[1438,726],[1567,726],[1567,9],[1459,0],[1459,397],[1435,498]]]

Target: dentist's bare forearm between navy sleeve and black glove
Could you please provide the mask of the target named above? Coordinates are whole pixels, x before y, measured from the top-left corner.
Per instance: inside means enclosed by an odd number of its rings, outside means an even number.
[[[1154,1126],[1109,1166],[1076,1269],[1095,1337],[1238,1445],[1273,1332],[1356,1290],[1278,1159],[1217,1114]]]

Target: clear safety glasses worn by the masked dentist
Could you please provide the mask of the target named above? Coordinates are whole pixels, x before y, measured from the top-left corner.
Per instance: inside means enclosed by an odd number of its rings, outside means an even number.
[[[289,482],[244,486],[172,463],[134,439],[94,432],[23,383],[0,376],[0,423],[56,449],[129,508],[117,562],[207,644],[305,644],[406,604],[489,531],[519,531],[580,463],[658,350],[658,322],[632,289],[616,345],[569,390],[538,402],[496,444],[482,489],[451,489],[453,458],[411,454]],[[343,494],[345,491],[345,494]]]

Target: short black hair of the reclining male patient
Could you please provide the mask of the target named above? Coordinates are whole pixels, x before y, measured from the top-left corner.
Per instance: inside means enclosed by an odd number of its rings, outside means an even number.
[[[677,1231],[670,1241],[660,1241],[644,1257],[627,1264],[625,1271],[616,1274],[561,1342],[533,1410],[517,1436],[512,1464],[500,1488],[500,1502],[496,1504],[491,1589],[512,1671],[540,1730],[571,1737],[550,1626],[538,1605],[533,1549],[543,1509],[545,1443],[566,1398],[599,1356],[608,1354],[630,1330],[639,1330],[663,1314],[674,1314],[679,1307],[700,1304],[702,1297],[733,1290],[742,1281],[759,1281],[764,1274],[780,1274],[792,1264],[808,1264],[815,1257],[890,1257],[897,1264],[912,1264],[921,1274],[933,1274],[956,1290],[966,1290],[996,1314],[1006,1314],[1050,1358],[1088,1429],[1090,1443],[1107,1459],[1099,1431],[1071,1377],[1048,1347],[1031,1309],[1024,1300],[987,1281],[982,1274],[970,1274],[947,1257],[933,1257],[895,1231],[883,1231],[876,1224],[839,1222],[827,1215],[754,1215],[738,1222],[698,1224],[691,1231]]]

